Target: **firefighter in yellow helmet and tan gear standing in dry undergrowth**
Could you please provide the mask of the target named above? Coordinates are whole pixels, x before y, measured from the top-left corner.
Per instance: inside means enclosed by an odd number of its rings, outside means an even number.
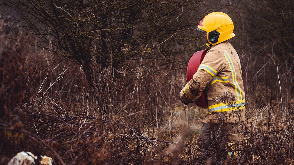
[[[233,146],[238,142],[238,124],[245,120],[245,92],[240,59],[229,43],[234,37],[231,18],[222,12],[205,16],[197,27],[205,32],[210,47],[193,78],[180,92],[180,100],[188,105],[200,97],[206,88],[208,114],[198,135],[199,147],[209,149],[212,140],[222,136],[229,157],[235,155]]]

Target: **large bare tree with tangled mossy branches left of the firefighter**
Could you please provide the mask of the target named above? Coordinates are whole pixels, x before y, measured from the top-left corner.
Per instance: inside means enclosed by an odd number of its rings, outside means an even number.
[[[195,32],[203,12],[199,1],[4,1],[18,17],[9,23],[36,36],[37,46],[81,65],[88,83],[98,87],[108,67],[130,59],[181,63],[199,48]],[[203,6],[203,4],[202,4]],[[204,9],[204,8],[203,8]],[[188,46],[189,47],[188,47]],[[190,52],[189,52],[190,54]],[[102,74],[103,75],[103,74]]]

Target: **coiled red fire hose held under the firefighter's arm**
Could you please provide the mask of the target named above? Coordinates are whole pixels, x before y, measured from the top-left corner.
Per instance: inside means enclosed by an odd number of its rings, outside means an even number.
[[[207,51],[208,49],[201,50],[192,55],[187,67],[187,81],[190,81],[193,78],[193,75],[196,73],[197,69],[199,68],[199,65],[203,61],[203,58],[206,55]],[[201,96],[195,101],[195,103],[198,107],[203,107],[203,108],[208,107],[206,88],[205,90],[202,91]]]

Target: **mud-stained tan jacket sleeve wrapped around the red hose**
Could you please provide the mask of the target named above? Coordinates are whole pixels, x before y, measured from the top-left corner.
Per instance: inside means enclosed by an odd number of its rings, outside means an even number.
[[[193,78],[180,92],[184,104],[192,103],[200,97],[201,92],[211,80],[224,68],[224,58],[219,50],[209,50]]]

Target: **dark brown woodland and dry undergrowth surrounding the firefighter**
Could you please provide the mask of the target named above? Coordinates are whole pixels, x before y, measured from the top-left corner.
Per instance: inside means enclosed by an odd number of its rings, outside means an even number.
[[[293,164],[294,1],[0,2],[0,164],[223,163],[196,145],[206,109],[178,99],[208,13],[234,22],[248,121],[235,164]]]

